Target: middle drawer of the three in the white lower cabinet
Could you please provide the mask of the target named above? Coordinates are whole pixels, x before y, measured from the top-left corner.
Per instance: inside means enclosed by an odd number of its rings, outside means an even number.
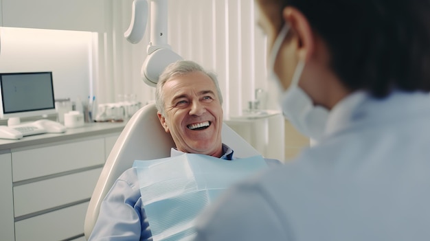
[[[14,187],[15,217],[91,197],[102,168]]]

